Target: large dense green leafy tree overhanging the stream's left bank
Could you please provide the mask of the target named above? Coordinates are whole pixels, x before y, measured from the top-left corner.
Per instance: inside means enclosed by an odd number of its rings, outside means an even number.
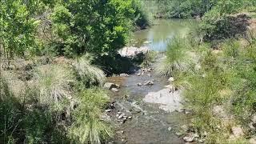
[[[61,54],[113,53],[126,43],[134,25],[146,25],[135,0],[63,1],[51,16]]]

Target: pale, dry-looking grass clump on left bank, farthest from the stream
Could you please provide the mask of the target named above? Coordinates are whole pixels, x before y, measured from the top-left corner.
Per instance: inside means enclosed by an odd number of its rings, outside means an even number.
[[[60,105],[64,99],[72,98],[74,72],[66,66],[38,66],[34,74],[34,82],[38,89],[38,101],[44,105]]]

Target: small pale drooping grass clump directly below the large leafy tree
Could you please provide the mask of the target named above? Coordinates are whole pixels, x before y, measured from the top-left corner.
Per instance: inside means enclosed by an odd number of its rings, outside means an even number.
[[[76,71],[78,78],[86,86],[102,86],[106,80],[104,72],[97,66],[91,65],[86,57],[78,58],[74,62],[74,70]]]

